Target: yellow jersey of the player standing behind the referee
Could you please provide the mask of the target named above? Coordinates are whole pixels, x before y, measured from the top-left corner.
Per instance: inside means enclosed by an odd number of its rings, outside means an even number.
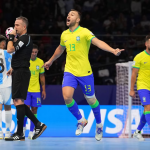
[[[43,65],[44,62],[40,58],[36,57],[34,61],[30,59],[31,77],[28,92],[40,92],[39,75],[45,72],[44,67],[42,68]]]

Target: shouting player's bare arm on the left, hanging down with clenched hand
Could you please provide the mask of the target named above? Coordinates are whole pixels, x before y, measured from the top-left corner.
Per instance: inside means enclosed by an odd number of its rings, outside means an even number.
[[[47,61],[43,66],[44,66],[47,70],[49,70],[49,67],[52,65],[52,63],[53,63],[57,58],[59,58],[59,57],[62,55],[62,53],[64,52],[64,50],[65,50],[65,47],[59,45],[59,46],[57,47],[57,49],[55,50],[55,53],[53,54],[53,56],[52,56],[52,57],[49,59],[49,61]]]

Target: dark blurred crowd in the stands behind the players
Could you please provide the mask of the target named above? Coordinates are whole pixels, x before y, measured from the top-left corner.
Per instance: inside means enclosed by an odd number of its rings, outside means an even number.
[[[0,0],[0,34],[14,26],[15,18],[29,20],[28,33],[39,46],[38,57],[47,61],[67,29],[66,17],[75,8],[82,13],[80,25],[113,48],[125,51],[116,57],[91,45],[89,60],[95,84],[116,84],[115,64],[132,61],[145,49],[150,34],[150,0]],[[66,53],[46,71],[47,84],[61,84]]]

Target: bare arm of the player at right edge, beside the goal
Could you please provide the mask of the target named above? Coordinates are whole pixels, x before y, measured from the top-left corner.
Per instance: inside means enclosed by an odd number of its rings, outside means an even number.
[[[138,74],[139,69],[138,68],[133,68],[132,69],[132,76],[131,76],[131,88],[130,88],[130,93],[129,95],[133,98],[135,98],[135,91],[134,91],[134,85],[136,82],[136,77]]]

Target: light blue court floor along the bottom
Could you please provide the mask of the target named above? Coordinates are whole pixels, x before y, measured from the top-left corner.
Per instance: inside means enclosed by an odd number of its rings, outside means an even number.
[[[139,142],[136,139],[103,138],[38,138],[36,140],[9,142],[0,140],[0,150],[150,150],[150,139]]]

